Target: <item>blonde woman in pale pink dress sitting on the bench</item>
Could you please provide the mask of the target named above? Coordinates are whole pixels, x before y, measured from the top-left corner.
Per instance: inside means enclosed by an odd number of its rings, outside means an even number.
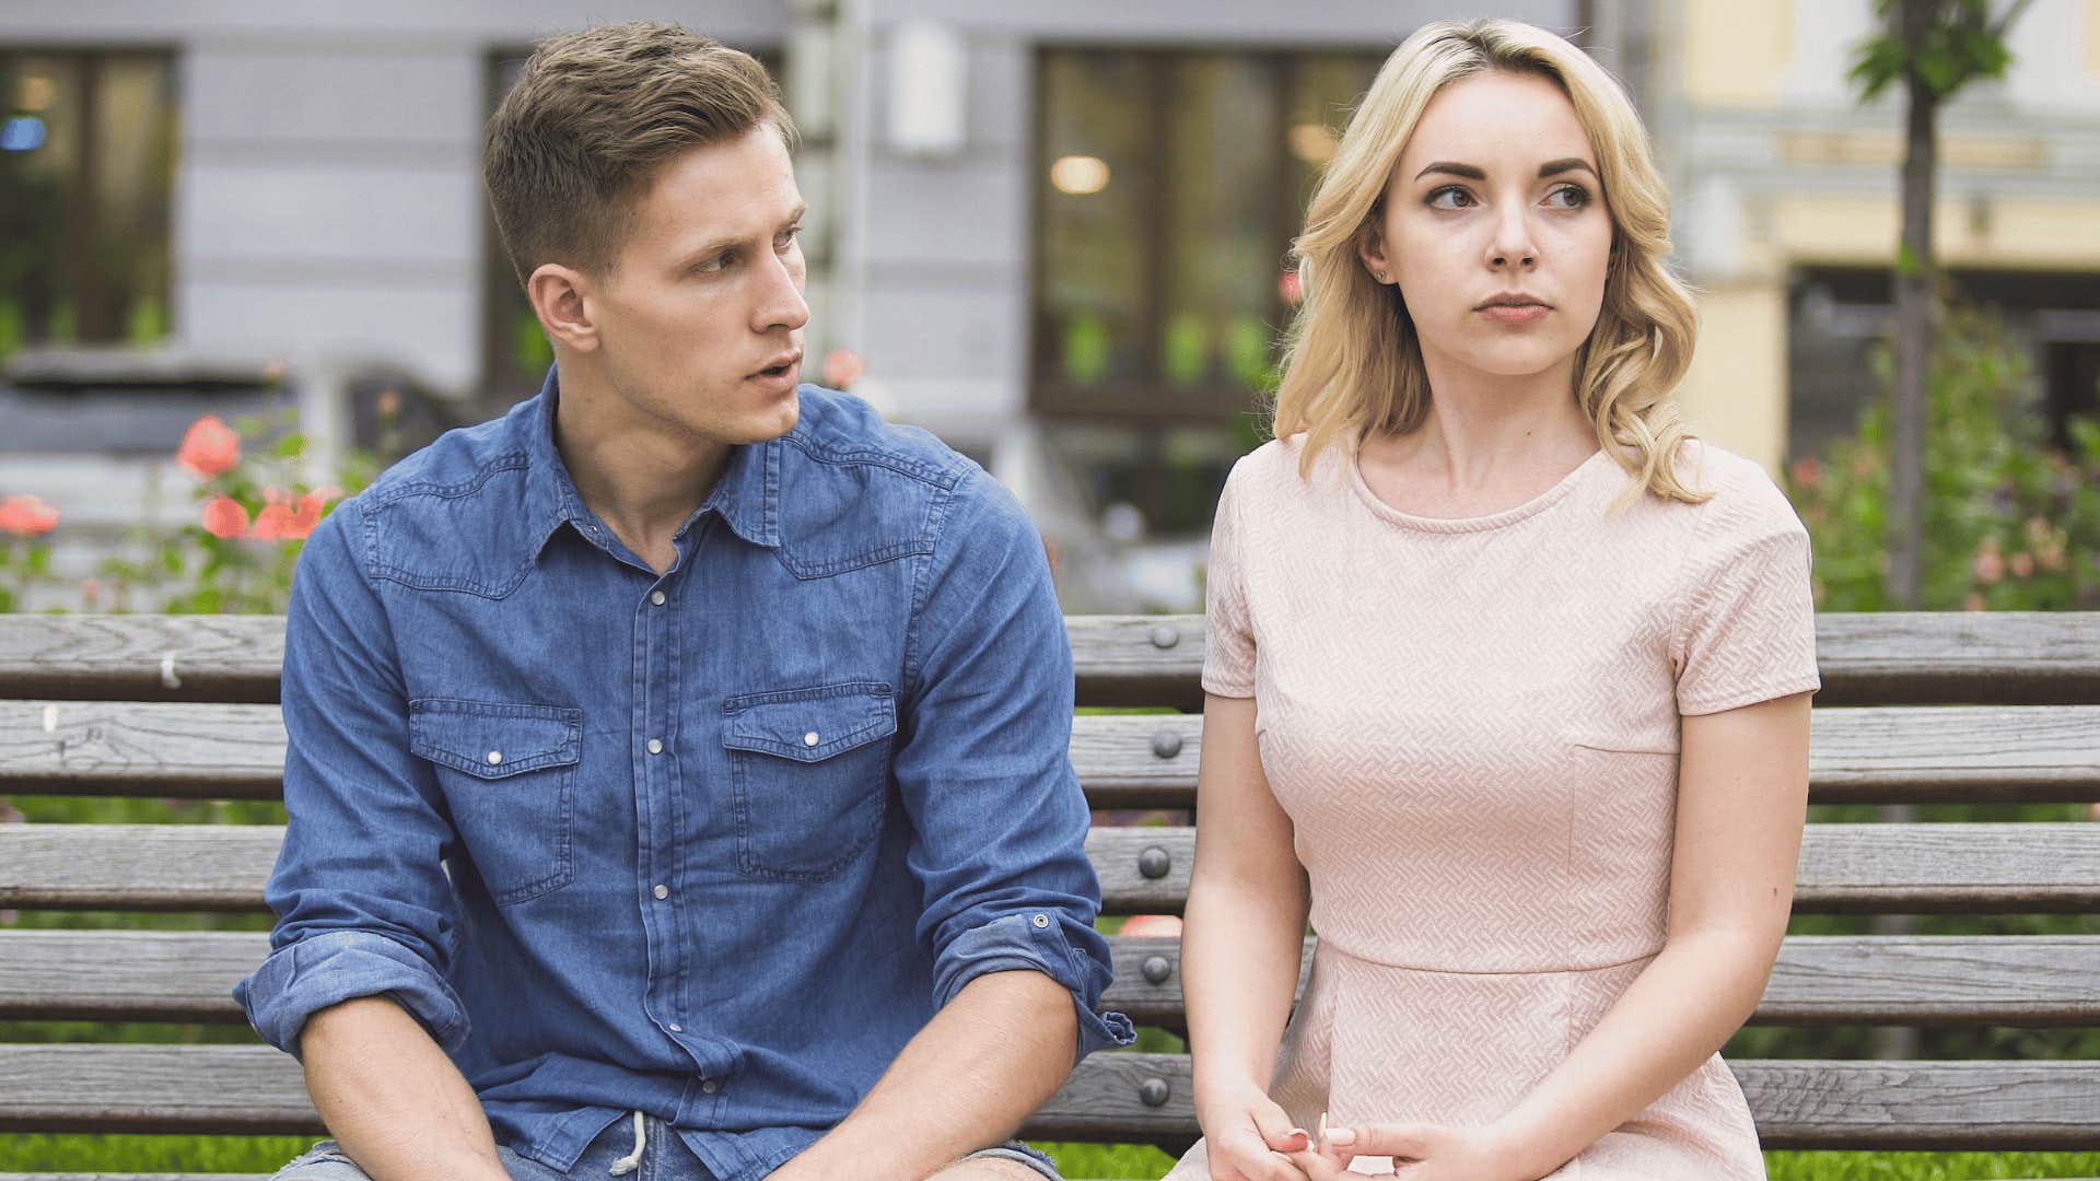
[[[1678,420],[1632,105],[1541,29],[1426,27],[1298,254],[1275,441],[1212,542],[1208,1137],[1172,1177],[1764,1177],[1716,1051],[1791,902],[1808,538]]]

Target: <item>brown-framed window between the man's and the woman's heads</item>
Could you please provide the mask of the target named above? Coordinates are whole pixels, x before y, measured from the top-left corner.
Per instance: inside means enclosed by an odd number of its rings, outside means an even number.
[[[1031,403],[1220,422],[1273,380],[1289,240],[1382,53],[1046,50]]]

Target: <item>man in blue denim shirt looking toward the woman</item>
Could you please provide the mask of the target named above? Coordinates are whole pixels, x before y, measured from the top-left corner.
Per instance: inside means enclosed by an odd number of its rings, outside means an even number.
[[[1054,1177],[1130,1040],[1014,500],[796,385],[777,90],[561,36],[485,179],[554,374],[338,509],[292,590],[273,954],[336,1141],[279,1177]]]

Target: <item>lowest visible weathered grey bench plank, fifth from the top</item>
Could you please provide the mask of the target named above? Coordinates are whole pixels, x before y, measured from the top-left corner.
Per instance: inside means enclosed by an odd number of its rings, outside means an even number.
[[[2100,1147],[2096,1061],[1739,1061],[1768,1147]],[[0,1044],[0,1131],[317,1133],[269,1047]],[[1195,1133],[1184,1055],[1086,1059],[1027,1124],[1046,1139]]]

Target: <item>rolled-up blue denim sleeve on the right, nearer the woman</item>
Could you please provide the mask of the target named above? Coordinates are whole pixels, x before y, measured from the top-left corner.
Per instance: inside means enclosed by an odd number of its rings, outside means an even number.
[[[1073,996],[1079,1057],[1130,1044],[1130,1019],[1096,1011],[1109,944],[1094,931],[1100,883],[1069,752],[1071,645],[1042,536],[1004,488],[972,473],[922,569],[895,773],[934,1004],[985,973],[1040,971]]]

